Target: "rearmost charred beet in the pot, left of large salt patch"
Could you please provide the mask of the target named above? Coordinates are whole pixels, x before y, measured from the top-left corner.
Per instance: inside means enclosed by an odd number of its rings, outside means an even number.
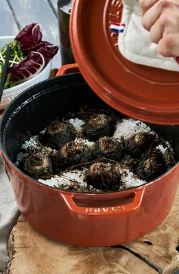
[[[112,123],[106,114],[93,114],[84,126],[84,135],[90,140],[112,136]]]

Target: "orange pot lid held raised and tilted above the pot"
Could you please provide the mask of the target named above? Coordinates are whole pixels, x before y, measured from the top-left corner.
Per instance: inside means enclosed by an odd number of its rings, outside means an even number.
[[[93,91],[135,119],[179,123],[179,73],[134,64],[123,58],[112,22],[120,23],[121,0],[75,0],[70,32],[73,55]]]

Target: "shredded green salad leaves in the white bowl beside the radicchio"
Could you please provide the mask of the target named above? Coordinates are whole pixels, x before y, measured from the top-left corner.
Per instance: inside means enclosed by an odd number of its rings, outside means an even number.
[[[10,46],[10,60],[8,63],[8,67],[10,68],[16,64],[19,64],[25,58],[25,55],[21,51],[21,45],[17,40],[12,40],[12,42],[10,42],[10,44],[8,45]],[[5,64],[6,51],[7,45],[0,49],[0,79],[3,73],[3,66]],[[12,86],[14,86],[14,83],[10,81],[10,77],[11,74],[9,73],[5,82],[4,89],[12,88]]]

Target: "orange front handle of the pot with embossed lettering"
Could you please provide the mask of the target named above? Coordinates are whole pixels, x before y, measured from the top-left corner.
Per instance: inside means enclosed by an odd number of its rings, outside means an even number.
[[[115,219],[117,216],[129,216],[130,214],[135,214],[139,211],[141,206],[141,202],[143,199],[143,194],[145,192],[145,187],[138,188],[133,192],[130,192],[131,195],[134,197],[133,201],[130,203],[125,203],[120,206],[109,206],[106,202],[106,207],[88,207],[88,206],[77,206],[75,201],[73,200],[74,195],[70,192],[61,192],[61,196],[64,199],[67,207],[69,208],[71,214],[75,215],[78,219],[88,219],[88,218],[97,218],[97,219]],[[118,195],[115,195],[115,198]],[[119,192],[119,199],[120,199],[120,192]],[[94,198],[94,197],[93,197]],[[110,201],[111,204],[111,201]]]

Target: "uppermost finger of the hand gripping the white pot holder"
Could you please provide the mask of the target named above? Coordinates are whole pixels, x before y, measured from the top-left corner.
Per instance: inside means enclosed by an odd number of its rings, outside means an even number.
[[[143,16],[143,27],[150,31],[152,25],[154,25],[154,23],[160,17],[160,14],[163,12],[163,10],[169,8],[171,6],[170,4],[171,3],[169,3],[169,0],[160,0],[157,1],[154,5],[152,5],[152,8],[147,10],[147,12],[145,12]]]

